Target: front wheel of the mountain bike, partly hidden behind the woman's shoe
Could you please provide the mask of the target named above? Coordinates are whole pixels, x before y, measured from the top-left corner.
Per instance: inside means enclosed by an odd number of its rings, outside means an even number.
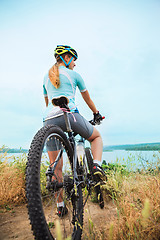
[[[95,182],[97,182],[97,178],[93,174],[93,158],[92,158],[92,154],[91,154],[91,149],[90,148],[85,148],[85,154],[86,154],[88,168],[89,168],[89,171],[91,173],[91,176],[92,176],[93,180]],[[94,187],[94,190],[96,192],[96,197],[97,197],[97,201],[99,203],[100,208],[104,208],[103,193],[101,191],[100,185],[96,185]]]

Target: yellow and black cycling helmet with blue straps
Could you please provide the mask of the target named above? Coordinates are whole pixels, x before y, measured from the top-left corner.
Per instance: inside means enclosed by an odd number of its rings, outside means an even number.
[[[61,56],[64,53],[70,53],[72,55],[72,58],[69,61],[69,63],[66,63],[66,61],[64,61],[63,57]],[[54,56],[56,59],[59,56],[62,59],[62,61],[65,63],[66,67],[69,67],[69,64],[71,63],[73,58],[75,58],[75,60],[77,60],[78,58],[78,54],[76,50],[66,45],[57,45],[56,49],[54,50]]]

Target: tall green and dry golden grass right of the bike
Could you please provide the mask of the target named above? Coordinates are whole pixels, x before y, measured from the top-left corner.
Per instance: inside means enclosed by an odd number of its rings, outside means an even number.
[[[153,156],[155,158],[155,154]],[[104,191],[110,193],[117,217],[104,239],[159,239],[160,236],[160,158],[140,171],[124,171],[112,166]],[[122,171],[123,170],[123,171]]]

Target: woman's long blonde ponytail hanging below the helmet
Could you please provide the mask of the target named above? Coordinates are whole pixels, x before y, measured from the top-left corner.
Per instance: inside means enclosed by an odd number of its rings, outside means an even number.
[[[58,64],[55,63],[50,69],[49,69],[49,79],[53,86],[57,89],[60,86],[60,79],[59,79],[59,68]]]

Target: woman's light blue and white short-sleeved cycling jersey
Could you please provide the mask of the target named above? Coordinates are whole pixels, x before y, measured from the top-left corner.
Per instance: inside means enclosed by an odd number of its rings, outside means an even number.
[[[76,87],[79,88],[80,92],[86,91],[85,83],[82,77],[75,71],[70,70],[64,66],[59,67],[59,78],[60,78],[60,87],[55,88],[51,83],[48,73],[44,77],[43,83],[43,93],[44,96],[47,96],[49,99],[48,107],[45,111],[44,120],[59,116],[62,114],[62,111],[59,107],[54,107],[52,105],[52,99],[59,96],[66,96],[69,99],[69,108],[72,112],[75,112],[75,93]]]

